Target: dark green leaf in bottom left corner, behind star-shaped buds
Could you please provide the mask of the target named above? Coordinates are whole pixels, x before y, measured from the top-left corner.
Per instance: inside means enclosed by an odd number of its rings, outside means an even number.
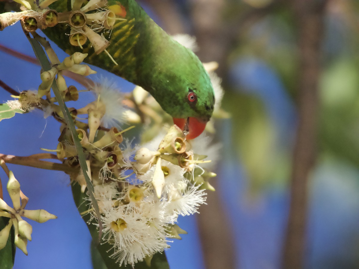
[[[9,222],[9,218],[0,217],[0,230],[2,230]],[[15,234],[14,234],[14,226],[11,227],[10,235],[8,238],[8,242],[6,246],[0,250],[0,263],[1,269],[11,269],[14,266],[15,260],[15,249],[16,246],[14,244]]]

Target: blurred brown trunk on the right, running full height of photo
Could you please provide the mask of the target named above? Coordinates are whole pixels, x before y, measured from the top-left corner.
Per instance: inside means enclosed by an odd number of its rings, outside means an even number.
[[[300,71],[298,74],[298,129],[295,140],[290,209],[283,249],[283,268],[304,268],[308,179],[317,153],[318,80],[325,0],[295,0]]]

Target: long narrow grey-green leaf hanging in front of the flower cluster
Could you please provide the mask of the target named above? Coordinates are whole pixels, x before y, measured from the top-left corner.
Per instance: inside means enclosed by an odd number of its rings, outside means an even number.
[[[34,50],[34,53],[35,53],[37,59],[39,60],[39,62],[41,64],[42,69],[44,71],[50,70],[51,69],[50,62],[48,61],[47,56],[46,56],[44,50],[42,49],[41,45],[39,44],[39,42],[37,40],[35,40],[34,38],[30,38],[29,35],[27,35],[27,38],[28,38],[29,42],[31,43],[31,46],[32,46],[32,48]],[[52,83],[52,90],[53,90],[53,93],[55,94],[57,103],[59,103],[61,111],[64,114],[65,122],[66,122],[67,126],[70,129],[71,136],[73,138],[75,148],[76,148],[76,152],[77,152],[77,155],[78,155],[78,158],[79,158],[80,167],[81,167],[82,173],[83,173],[83,175],[85,177],[87,189],[89,190],[89,195],[90,195],[90,198],[91,198],[91,201],[92,201],[92,206],[93,206],[93,208],[95,210],[95,213],[97,215],[98,220],[101,220],[100,210],[98,208],[97,201],[96,201],[96,199],[95,199],[95,197],[93,195],[93,192],[94,192],[93,185],[92,185],[92,182],[91,182],[91,180],[90,180],[90,178],[89,178],[89,176],[87,174],[88,170],[87,170],[87,164],[86,164],[86,157],[85,157],[85,154],[84,154],[84,152],[82,150],[82,146],[80,144],[79,137],[78,137],[78,135],[76,133],[75,124],[74,124],[74,122],[73,122],[73,120],[71,118],[69,109],[67,109],[67,107],[65,105],[65,102],[61,97],[61,94],[60,94],[59,88],[57,86],[56,80],[54,80],[53,83]],[[102,233],[102,223],[101,223],[101,221],[99,221],[98,241],[100,240],[101,233]]]

